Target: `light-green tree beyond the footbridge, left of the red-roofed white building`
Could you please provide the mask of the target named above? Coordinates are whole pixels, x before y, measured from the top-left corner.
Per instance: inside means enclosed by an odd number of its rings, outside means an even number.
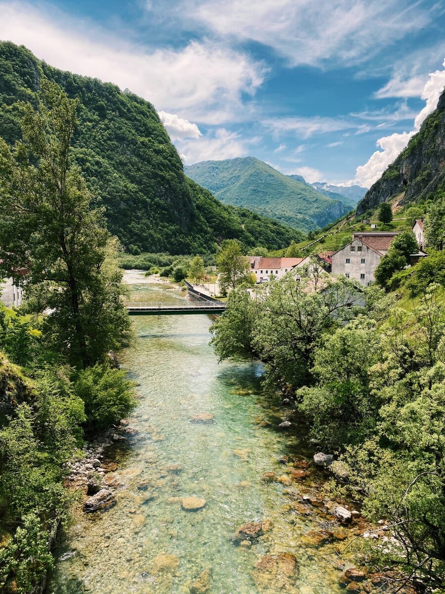
[[[217,254],[218,285],[222,293],[236,289],[243,283],[250,284],[249,260],[243,255],[243,248],[237,239],[226,239]]]

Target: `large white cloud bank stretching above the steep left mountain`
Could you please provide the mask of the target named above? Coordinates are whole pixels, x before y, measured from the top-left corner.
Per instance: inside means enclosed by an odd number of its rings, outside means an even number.
[[[240,112],[243,93],[255,93],[265,67],[216,42],[182,49],[127,42],[96,25],[32,4],[0,1],[0,39],[26,45],[49,64],[104,81],[187,119],[221,124]]]

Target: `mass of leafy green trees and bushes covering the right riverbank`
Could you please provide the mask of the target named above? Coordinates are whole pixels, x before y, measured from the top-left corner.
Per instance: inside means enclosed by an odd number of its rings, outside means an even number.
[[[365,516],[391,526],[398,545],[367,551],[367,563],[384,558],[440,587],[445,309],[438,287],[430,283],[406,312],[376,287],[316,282],[285,279],[254,299],[234,290],[212,343],[221,358],[261,359],[272,387],[294,391],[311,435],[338,453],[334,468],[360,495]]]

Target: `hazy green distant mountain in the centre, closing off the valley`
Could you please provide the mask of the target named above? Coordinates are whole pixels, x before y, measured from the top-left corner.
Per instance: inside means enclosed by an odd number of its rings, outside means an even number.
[[[350,209],[300,179],[292,179],[255,157],[202,161],[185,167],[187,175],[225,204],[251,208],[304,230],[338,219]]]

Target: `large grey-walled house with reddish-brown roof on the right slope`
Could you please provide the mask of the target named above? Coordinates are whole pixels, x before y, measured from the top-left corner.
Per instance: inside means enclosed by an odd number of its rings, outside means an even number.
[[[374,280],[374,270],[397,235],[399,232],[354,233],[348,245],[332,254],[332,274],[357,279],[368,286]]]

